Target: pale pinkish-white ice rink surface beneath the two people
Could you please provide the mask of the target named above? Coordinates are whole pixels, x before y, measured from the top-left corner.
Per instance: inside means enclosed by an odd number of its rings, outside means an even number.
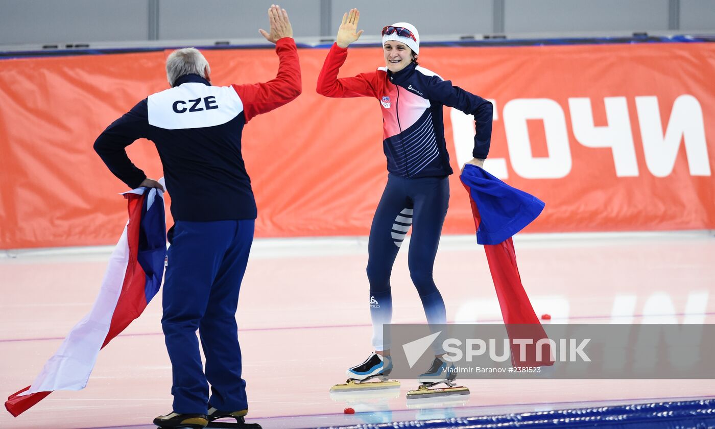
[[[119,233],[117,234],[119,235]],[[552,323],[715,322],[712,232],[518,235],[516,256],[538,315]],[[393,322],[424,322],[407,270],[393,270]],[[92,307],[109,247],[0,257],[0,386],[29,385]],[[400,392],[331,398],[345,368],[372,351],[365,238],[257,240],[237,320],[250,403],[264,428],[450,418],[715,396],[715,380],[463,380],[468,400],[409,405]],[[483,248],[445,236],[435,282],[450,322],[501,322]],[[161,293],[99,353],[87,388],[56,392],[1,428],[153,428],[172,406]],[[354,415],[343,414],[346,407]]]

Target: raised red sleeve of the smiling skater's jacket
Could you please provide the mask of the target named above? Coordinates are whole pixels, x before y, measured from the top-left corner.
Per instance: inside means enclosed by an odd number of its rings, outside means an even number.
[[[337,79],[337,71],[345,63],[347,48],[343,49],[332,44],[327,53],[325,63],[322,64],[320,75],[317,77],[317,93],[325,97],[378,97],[375,81],[378,73],[360,73],[355,77]]]

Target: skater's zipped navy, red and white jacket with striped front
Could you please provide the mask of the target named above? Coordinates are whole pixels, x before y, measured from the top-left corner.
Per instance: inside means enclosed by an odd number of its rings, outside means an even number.
[[[433,71],[414,63],[393,73],[380,67],[371,73],[337,79],[347,48],[333,44],[317,81],[318,94],[327,97],[375,97],[383,111],[383,149],[388,171],[400,177],[452,174],[444,137],[442,107],[474,115],[473,157],[489,152],[492,129],[490,102],[470,94]]]

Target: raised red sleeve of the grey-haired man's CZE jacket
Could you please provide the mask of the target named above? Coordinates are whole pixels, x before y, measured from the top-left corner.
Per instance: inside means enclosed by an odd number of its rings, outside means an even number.
[[[295,40],[290,37],[278,40],[275,52],[279,61],[275,79],[260,84],[232,85],[243,102],[246,122],[257,114],[270,112],[300,95],[300,63]]]

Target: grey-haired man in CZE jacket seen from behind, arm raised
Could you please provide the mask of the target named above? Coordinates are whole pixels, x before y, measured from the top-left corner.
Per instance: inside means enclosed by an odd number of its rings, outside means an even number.
[[[275,79],[212,87],[201,52],[178,49],[167,58],[172,88],[139,102],[94,143],[127,186],[161,189],[124,150],[140,137],[152,140],[172,197],[175,224],[169,231],[162,327],[172,362],[174,403],[172,413],[154,420],[162,428],[203,428],[217,418],[242,421],[247,413],[235,312],[257,211],[241,134],[255,115],[300,95],[300,65],[288,15],[271,6],[268,17],[270,33],[260,33],[276,44],[280,66]]]

